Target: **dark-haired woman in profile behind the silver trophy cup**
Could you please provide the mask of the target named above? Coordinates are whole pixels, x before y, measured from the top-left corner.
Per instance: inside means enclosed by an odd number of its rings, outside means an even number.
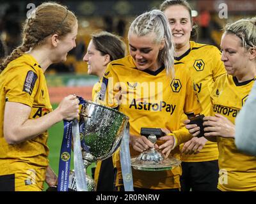
[[[83,61],[88,64],[88,75],[96,75],[99,82],[93,86],[92,99],[97,102],[101,80],[109,62],[123,58],[126,46],[119,36],[102,31],[92,35],[92,40],[84,55]],[[95,169],[97,191],[113,191],[115,177],[115,153],[113,157],[98,161]],[[113,159],[113,161],[112,161]]]

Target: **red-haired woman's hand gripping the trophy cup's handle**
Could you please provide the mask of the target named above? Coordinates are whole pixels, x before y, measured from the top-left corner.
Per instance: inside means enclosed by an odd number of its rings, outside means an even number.
[[[57,109],[63,120],[73,120],[79,117],[79,99],[76,95],[68,95],[63,98]]]

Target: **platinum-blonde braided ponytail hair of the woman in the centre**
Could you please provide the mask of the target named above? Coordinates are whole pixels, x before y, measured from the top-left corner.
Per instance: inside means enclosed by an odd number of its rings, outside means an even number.
[[[167,18],[160,10],[152,10],[138,16],[131,24],[129,32],[137,36],[156,34],[154,41],[161,43],[164,40],[164,48],[159,52],[159,61],[164,64],[167,75],[175,77],[174,71],[174,44],[172,31]]]

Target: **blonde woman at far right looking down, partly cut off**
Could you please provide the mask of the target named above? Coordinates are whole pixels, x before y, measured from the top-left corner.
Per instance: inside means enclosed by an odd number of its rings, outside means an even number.
[[[256,191],[256,157],[240,152],[234,141],[234,122],[256,76],[256,18],[228,24],[221,38],[221,60],[227,74],[214,83],[211,116],[204,117],[205,137],[218,142],[221,191]],[[189,120],[185,123],[188,124]],[[193,136],[200,131],[186,125]]]

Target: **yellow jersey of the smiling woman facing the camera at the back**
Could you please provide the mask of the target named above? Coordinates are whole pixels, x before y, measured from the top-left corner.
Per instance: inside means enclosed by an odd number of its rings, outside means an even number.
[[[190,41],[190,49],[180,57],[175,57],[175,66],[188,69],[194,81],[194,89],[202,105],[202,114],[209,115],[211,110],[210,94],[216,78],[226,73],[221,61],[221,52],[217,47]],[[186,115],[182,117],[182,121]],[[182,149],[183,145],[180,145]],[[200,162],[218,159],[218,147],[215,142],[206,142],[198,154],[182,154],[182,161]]]

